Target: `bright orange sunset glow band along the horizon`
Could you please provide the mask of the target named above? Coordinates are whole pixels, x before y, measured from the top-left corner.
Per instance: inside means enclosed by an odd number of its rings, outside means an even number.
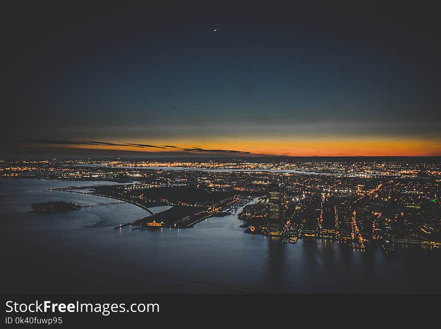
[[[142,143],[143,141],[141,141]],[[146,141],[144,141],[147,143]],[[67,148],[82,150],[113,150],[136,152],[170,152],[175,149],[163,145],[177,144],[170,140],[153,140],[161,147],[139,147],[129,145],[60,145],[47,144],[48,148]],[[133,141],[115,141],[109,143],[129,144]],[[268,139],[207,139],[196,144],[191,140],[182,140],[179,151],[195,153],[186,149],[235,150],[251,155],[282,156],[438,156],[441,154],[441,140],[437,139],[398,139],[398,138],[292,138],[291,140]],[[195,146],[197,145],[197,146]]]

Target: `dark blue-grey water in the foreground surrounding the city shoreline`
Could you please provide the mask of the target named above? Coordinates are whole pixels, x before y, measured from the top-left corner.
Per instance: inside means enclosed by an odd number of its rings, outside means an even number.
[[[441,292],[439,249],[401,248],[391,259],[330,241],[281,244],[245,234],[237,214],[189,229],[115,230],[149,215],[128,203],[30,212],[34,202],[112,201],[49,190],[92,184],[103,182],[0,179],[2,292]]]

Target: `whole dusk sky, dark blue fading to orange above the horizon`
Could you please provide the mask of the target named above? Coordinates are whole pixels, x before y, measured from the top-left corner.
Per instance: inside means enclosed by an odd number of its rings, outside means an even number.
[[[2,153],[441,155],[433,8],[215,6],[7,7]]]

